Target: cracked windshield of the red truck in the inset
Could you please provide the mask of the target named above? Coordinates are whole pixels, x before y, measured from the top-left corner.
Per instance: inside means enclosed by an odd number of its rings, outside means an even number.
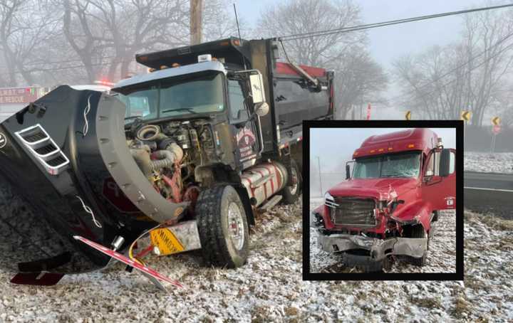
[[[406,152],[356,159],[353,178],[418,177],[419,172],[420,152]]]

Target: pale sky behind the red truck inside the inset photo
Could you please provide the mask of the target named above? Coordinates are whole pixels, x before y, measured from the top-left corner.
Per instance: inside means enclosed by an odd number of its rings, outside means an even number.
[[[321,158],[321,169],[341,171],[352,159],[353,152],[368,137],[408,128],[313,128],[310,129],[310,159]],[[456,148],[456,129],[430,128],[439,137],[445,148]],[[342,170],[343,171],[343,170]]]

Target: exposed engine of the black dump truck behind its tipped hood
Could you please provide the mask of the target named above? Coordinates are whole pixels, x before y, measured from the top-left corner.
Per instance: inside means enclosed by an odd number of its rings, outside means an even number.
[[[195,202],[199,194],[195,167],[216,159],[208,122],[146,125],[135,120],[126,137],[135,162],[162,197],[174,203]]]

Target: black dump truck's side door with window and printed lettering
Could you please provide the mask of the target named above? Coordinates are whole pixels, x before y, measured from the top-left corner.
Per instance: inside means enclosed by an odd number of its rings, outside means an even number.
[[[237,147],[238,163],[242,169],[255,164],[260,152],[257,118],[249,120],[251,110],[247,91],[242,80],[228,80],[229,120],[234,127],[234,140]],[[245,123],[245,124],[244,124]]]

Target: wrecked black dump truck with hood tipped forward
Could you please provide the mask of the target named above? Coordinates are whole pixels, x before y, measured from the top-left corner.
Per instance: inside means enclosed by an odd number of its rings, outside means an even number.
[[[333,73],[277,56],[274,39],[238,38],[145,53],[149,73],[110,93],[61,86],[3,122],[13,282],[51,285],[120,253],[143,272],[150,251],[244,265],[255,209],[301,193],[302,121],[333,117]]]

